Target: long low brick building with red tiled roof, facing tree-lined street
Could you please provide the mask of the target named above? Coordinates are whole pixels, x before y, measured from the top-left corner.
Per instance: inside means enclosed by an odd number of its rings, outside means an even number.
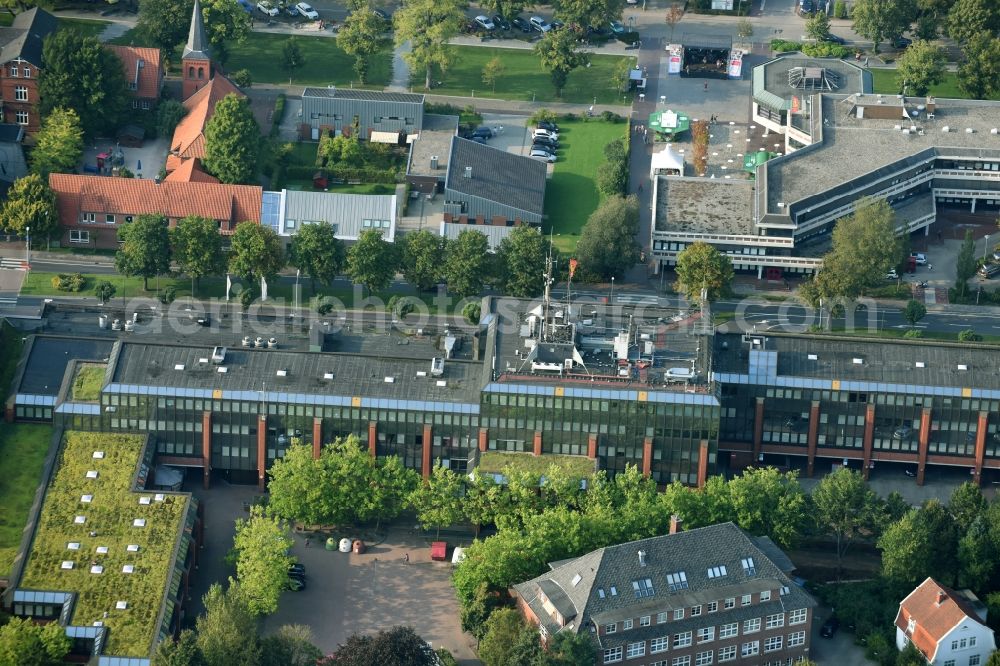
[[[259,185],[170,182],[66,173],[49,175],[64,247],[117,249],[118,228],[137,215],[163,215],[171,227],[188,215],[215,220],[228,236],[240,222],[260,224]]]

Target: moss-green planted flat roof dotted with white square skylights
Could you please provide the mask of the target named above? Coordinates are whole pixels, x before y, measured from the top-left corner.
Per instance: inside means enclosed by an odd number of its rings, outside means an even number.
[[[109,655],[149,655],[189,506],[186,494],[133,491],[144,448],[145,438],[136,435],[65,434],[19,586],[75,592],[70,624],[103,622]],[[137,519],[145,525],[136,526]],[[101,573],[92,573],[95,564]],[[126,608],[117,608],[119,601]]]

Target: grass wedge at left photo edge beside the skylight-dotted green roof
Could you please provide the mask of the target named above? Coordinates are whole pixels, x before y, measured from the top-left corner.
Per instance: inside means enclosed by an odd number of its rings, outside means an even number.
[[[0,423],[0,576],[14,564],[51,438],[50,425]]]

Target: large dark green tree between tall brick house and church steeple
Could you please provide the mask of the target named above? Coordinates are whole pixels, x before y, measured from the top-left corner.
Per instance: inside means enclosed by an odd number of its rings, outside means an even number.
[[[88,137],[107,136],[124,118],[131,100],[122,62],[96,37],[58,30],[45,38],[38,74],[38,110],[72,109]]]

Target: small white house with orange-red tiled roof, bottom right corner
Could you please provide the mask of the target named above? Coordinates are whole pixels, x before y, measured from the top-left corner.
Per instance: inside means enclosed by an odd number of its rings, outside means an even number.
[[[971,590],[956,592],[933,578],[899,602],[896,647],[911,642],[934,666],[985,666],[996,649],[985,604]]]

